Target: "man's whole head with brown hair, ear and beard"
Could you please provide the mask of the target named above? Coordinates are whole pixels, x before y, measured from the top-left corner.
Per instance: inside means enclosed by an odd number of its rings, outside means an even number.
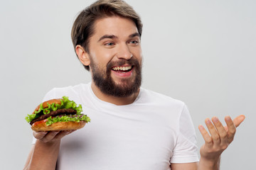
[[[136,94],[142,81],[142,23],[124,1],[97,1],[75,20],[75,52],[103,94]],[[89,69],[88,69],[89,70]]]

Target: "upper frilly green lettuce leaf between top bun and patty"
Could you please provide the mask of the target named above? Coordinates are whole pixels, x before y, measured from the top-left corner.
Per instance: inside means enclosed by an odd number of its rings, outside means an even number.
[[[47,108],[43,108],[43,103],[40,104],[40,107],[38,109],[38,111],[35,111],[34,114],[31,115],[27,115],[25,120],[30,123],[33,119],[38,118],[39,115],[43,114],[47,114],[50,113],[50,111],[56,111],[57,109],[60,108],[73,108],[75,111],[77,111],[77,115],[80,115],[82,112],[82,106],[81,105],[77,105],[77,103],[75,103],[75,101],[70,101],[68,99],[68,96],[63,96],[62,99],[60,99],[61,103],[60,104],[48,104]]]

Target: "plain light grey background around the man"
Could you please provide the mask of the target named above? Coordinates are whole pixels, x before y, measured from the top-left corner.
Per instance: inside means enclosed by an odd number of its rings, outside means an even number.
[[[143,86],[185,101],[198,125],[246,115],[221,169],[256,169],[256,1],[137,1],[144,30]],[[87,83],[70,30],[92,1],[0,2],[1,169],[22,169],[32,131],[24,117],[55,86]]]

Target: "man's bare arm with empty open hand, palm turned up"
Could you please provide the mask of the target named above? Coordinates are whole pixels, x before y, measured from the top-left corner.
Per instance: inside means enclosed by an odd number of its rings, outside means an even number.
[[[225,127],[220,123],[218,118],[213,117],[212,122],[207,118],[206,126],[210,135],[199,125],[199,130],[203,135],[205,144],[200,149],[201,158],[199,164],[171,164],[172,170],[219,170],[220,169],[220,155],[227,149],[228,145],[233,141],[236,128],[245,120],[245,115],[239,115],[234,120],[229,116],[225,117]]]

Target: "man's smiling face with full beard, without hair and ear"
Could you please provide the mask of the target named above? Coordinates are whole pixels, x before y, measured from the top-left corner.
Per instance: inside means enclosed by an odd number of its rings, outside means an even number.
[[[112,16],[96,21],[94,28],[88,52],[93,82],[107,95],[137,93],[142,83],[142,49],[136,25]]]

